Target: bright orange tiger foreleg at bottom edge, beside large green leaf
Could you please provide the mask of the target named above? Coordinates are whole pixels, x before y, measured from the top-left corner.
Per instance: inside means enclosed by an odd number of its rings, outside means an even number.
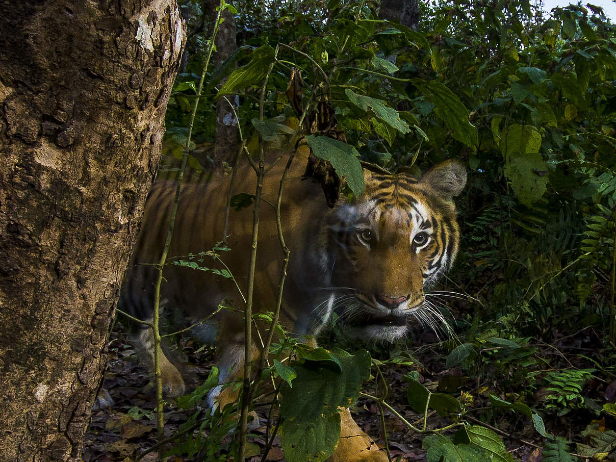
[[[353,420],[349,409],[340,411],[340,439],[327,462],[387,462],[387,454]]]

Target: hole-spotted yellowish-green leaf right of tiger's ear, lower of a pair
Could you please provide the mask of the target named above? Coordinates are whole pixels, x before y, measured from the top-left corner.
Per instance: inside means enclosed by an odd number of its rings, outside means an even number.
[[[548,165],[538,153],[516,156],[505,166],[505,175],[511,180],[516,196],[526,205],[532,205],[546,192],[547,172]]]

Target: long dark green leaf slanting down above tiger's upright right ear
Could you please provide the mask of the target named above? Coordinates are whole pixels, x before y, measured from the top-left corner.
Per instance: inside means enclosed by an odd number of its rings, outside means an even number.
[[[468,110],[460,99],[439,81],[417,79],[413,83],[426,99],[434,103],[434,112],[453,132],[453,137],[475,150],[479,139],[477,128],[469,122]]]

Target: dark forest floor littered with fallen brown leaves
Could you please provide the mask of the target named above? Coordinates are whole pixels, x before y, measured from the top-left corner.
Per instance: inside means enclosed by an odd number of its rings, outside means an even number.
[[[414,351],[413,357],[420,365],[386,365],[382,368],[384,378],[390,385],[387,402],[392,405],[410,423],[421,427],[423,416],[410,410],[406,398],[407,384],[403,376],[409,371],[419,371],[420,381],[424,386],[436,391],[436,389],[446,389],[443,384],[449,384],[456,389],[456,393],[466,391],[474,396],[472,403],[473,411],[469,412],[465,419],[470,424],[480,424],[487,426],[495,431],[505,442],[505,446],[515,460],[522,462],[540,462],[545,459],[541,455],[541,448],[545,444],[545,439],[533,428],[530,418],[515,414],[508,410],[486,410],[489,408],[488,393],[494,393],[495,388],[501,381],[506,381],[507,377],[495,376],[490,370],[479,373],[469,378],[468,371],[461,368],[446,368],[445,353],[437,346],[425,346],[429,338],[420,339],[424,346],[419,346],[419,341]],[[589,359],[584,361],[584,356],[580,354],[585,351],[591,355],[594,333],[582,332],[576,336],[564,337],[561,341],[554,344],[543,344],[540,353],[548,361],[553,360],[554,364],[568,358],[575,358],[575,368],[586,368],[592,366]],[[184,378],[187,390],[195,389],[203,383],[208,376],[209,370],[214,364],[213,347],[202,347],[190,338],[180,339],[182,355],[187,362],[184,367]],[[122,461],[132,462],[135,457],[147,448],[156,444],[156,424],[153,413],[153,391],[149,384],[147,371],[142,368],[137,360],[134,348],[126,340],[123,333],[112,333],[109,343],[108,367],[105,371],[103,388],[108,391],[113,399],[113,403],[103,403],[103,407],[92,413],[90,428],[84,439],[84,462],[111,462]],[[518,367],[519,369],[519,367]],[[511,373],[510,373],[511,375]],[[610,384],[611,382],[611,384]],[[440,386],[439,386],[440,383]],[[616,381],[606,379],[594,379],[589,381],[585,387],[588,399],[593,402],[614,402],[616,391]],[[503,395],[504,393],[501,393]],[[537,389],[531,396],[535,403],[527,403],[530,407],[540,408],[541,399],[545,396],[545,389]],[[507,399],[511,397],[505,394]],[[511,399],[513,400],[513,399]],[[172,403],[165,408],[165,436],[171,436],[174,432],[187,421],[193,411],[184,411]],[[267,407],[256,409],[259,414],[260,426],[251,433],[249,437],[249,450],[253,455],[247,459],[250,462],[258,461],[285,461],[283,452],[280,448],[280,440],[275,437],[274,444],[269,453],[264,458],[264,448],[268,428]],[[384,418],[379,416],[379,410],[375,403],[362,400],[352,409],[357,423],[364,431],[375,438],[379,446],[385,447],[386,428],[387,444],[393,461],[424,461],[426,451],[421,448],[423,435],[417,434],[407,429],[402,421],[393,413],[384,410]],[[545,415],[544,420],[549,432],[559,434],[569,440],[580,440],[579,434],[586,426],[598,419],[595,413],[588,409],[575,409],[564,416]],[[275,419],[270,422],[272,426]],[[606,426],[605,419],[602,425]],[[442,428],[452,423],[448,416],[439,416],[435,412],[429,415],[428,428]],[[608,426],[615,428],[614,419],[609,420]],[[445,435],[452,434],[454,430],[445,432]],[[229,436],[230,438],[230,436]],[[584,441],[581,441],[584,442]],[[607,455],[607,454],[606,454]],[[142,457],[144,462],[156,460],[156,453],[151,452]],[[205,460],[203,458],[182,458],[180,456],[169,456],[169,462],[181,462],[192,460]],[[559,459],[560,460],[560,459]],[[578,458],[579,461],[589,461],[590,458]],[[594,459],[593,459],[594,460]],[[598,459],[604,460],[604,459]],[[606,459],[611,460],[611,459]]]

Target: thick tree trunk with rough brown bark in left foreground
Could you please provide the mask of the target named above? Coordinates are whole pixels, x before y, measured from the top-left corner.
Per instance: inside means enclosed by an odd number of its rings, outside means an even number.
[[[175,0],[0,6],[0,460],[79,460],[184,43]]]

